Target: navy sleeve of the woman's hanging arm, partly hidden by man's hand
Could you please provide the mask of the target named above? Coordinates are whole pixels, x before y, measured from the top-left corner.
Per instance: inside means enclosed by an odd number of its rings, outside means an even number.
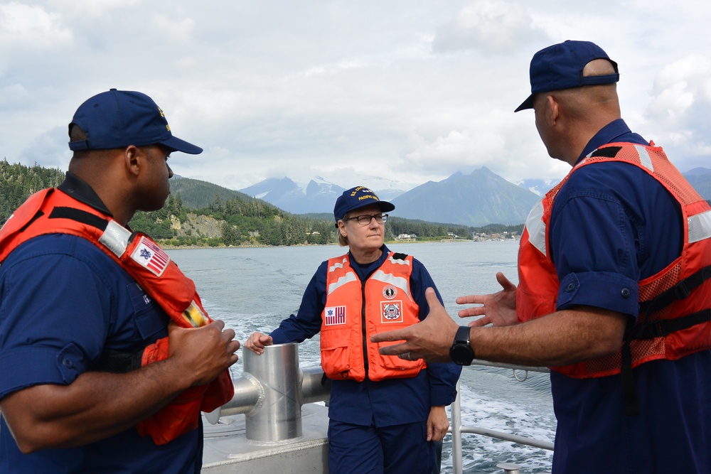
[[[422,321],[429,313],[429,305],[424,297],[427,288],[433,288],[437,293],[439,302],[442,296],[435,286],[429,271],[417,259],[412,259],[412,275],[410,276],[410,288],[412,297],[419,305],[419,319]],[[459,380],[461,367],[454,362],[432,362],[427,363],[427,379],[429,382],[429,399],[432,406],[449,405],[456,399],[456,382]]]

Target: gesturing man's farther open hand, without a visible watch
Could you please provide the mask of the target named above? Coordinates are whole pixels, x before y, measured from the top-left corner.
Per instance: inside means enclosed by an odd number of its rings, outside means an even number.
[[[496,274],[496,281],[503,288],[498,293],[459,296],[459,298],[456,298],[457,304],[476,303],[481,305],[459,311],[460,318],[483,315],[483,318],[471,321],[469,323],[470,327],[478,328],[487,324],[509,326],[518,323],[518,316],[516,316],[516,286],[508,281],[501,271]]]

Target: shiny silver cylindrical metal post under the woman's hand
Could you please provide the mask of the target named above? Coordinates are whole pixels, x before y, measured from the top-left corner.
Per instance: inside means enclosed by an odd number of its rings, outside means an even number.
[[[246,350],[242,357],[245,373],[262,392],[260,403],[245,414],[247,439],[273,443],[301,436],[299,346],[268,345],[262,355]]]

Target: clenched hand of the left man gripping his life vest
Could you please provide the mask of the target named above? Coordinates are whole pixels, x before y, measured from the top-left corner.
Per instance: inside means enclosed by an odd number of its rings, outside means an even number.
[[[181,328],[172,322],[168,325],[169,358],[184,367],[185,375],[193,377],[192,385],[212,382],[237,362],[235,352],[240,341],[235,340],[235,330],[224,328],[220,320],[200,328]]]

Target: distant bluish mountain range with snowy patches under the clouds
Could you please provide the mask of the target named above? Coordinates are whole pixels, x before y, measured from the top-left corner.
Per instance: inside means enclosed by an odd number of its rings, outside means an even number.
[[[683,175],[704,199],[711,200],[711,169],[694,168]],[[428,181],[415,187],[373,177],[357,177],[354,181],[368,183],[381,199],[395,204],[392,215],[396,217],[473,227],[522,224],[540,196],[558,183],[535,179],[511,183],[488,168],[469,174],[454,173],[442,181]],[[188,189],[191,192],[186,192]],[[292,214],[328,216],[346,188],[321,177],[306,186],[284,177],[269,178],[235,191],[176,176],[171,180],[171,190],[181,194],[183,203],[191,208],[207,207],[215,198],[224,202],[239,196],[262,199]]]

